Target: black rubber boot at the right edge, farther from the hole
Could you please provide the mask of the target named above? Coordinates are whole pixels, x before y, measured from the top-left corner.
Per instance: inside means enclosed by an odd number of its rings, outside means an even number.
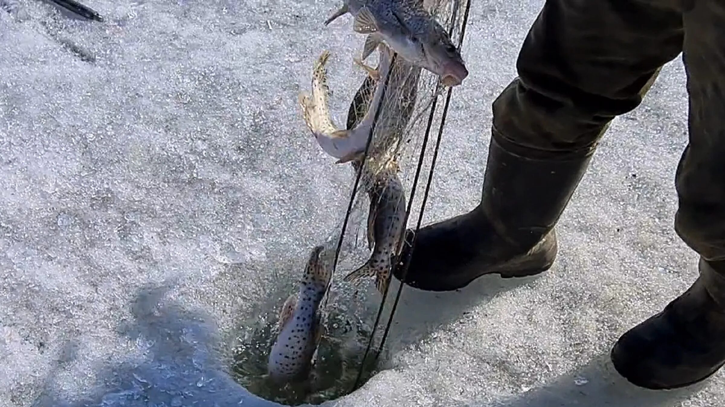
[[[707,379],[725,364],[725,261],[700,259],[700,277],[663,311],[619,338],[611,352],[633,385],[675,389]]]

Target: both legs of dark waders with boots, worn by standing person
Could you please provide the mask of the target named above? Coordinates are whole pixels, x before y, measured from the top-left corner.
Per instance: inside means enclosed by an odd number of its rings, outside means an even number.
[[[405,245],[405,282],[455,290],[483,274],[549,269],[555,224],[609,122],[636,108],[681,52],[689,144],[676,172],[675,228],[700,254],[700,277],[626,332],[612,358],[630,382],[653,389],[716,372],[725,362],[725,0],[546,1],[518,77],[493,103],[481,203],[423,228],[412,251]]]

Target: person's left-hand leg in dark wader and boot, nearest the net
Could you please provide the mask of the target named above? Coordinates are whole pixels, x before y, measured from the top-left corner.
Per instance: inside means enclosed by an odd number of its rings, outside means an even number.
[[[549,269],[555,223],[597,141],[681,51],[676,10],[644,0],[548,0],[521,48],[518,77],[493,103],[481,204],[421,229],[412,251],[404,245],[405,282],[455,290],[487,273]]]

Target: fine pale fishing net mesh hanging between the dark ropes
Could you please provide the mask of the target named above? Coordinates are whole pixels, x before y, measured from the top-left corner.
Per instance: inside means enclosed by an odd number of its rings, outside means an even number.
[[[423,6],[428,12],[436,17],[443,27],[451,35],[454,43],[462,30],[463,12],[460,0],[424,0]],[[373,54],[375,55],[375,54]],[[374,56],[376,59],[377,56]],[[351,56],[352,59],[352,56]],[[373,59],[373,56],[370,56]],[[375,67],[375,65],[372,65]],[[364,70],[360,70],[365,72]],[[373,135],[370,140],[368,154],[363,162],[363,171],[355,190],[351,190],[354,201],[352,211],[345,225],[344,219],[340,219],[338,225],[328,236],[326,242],[326,255],[334,263],[334,251],[342,233],[342,245],[339,259],[336,264],[334,280],[339,281],[348,272],[357,269],[369,258],[371,251],[365,243],[368,233],[368,208],[371,204],[379,204],[382,196],[385,196],[386,185],[399,182],[405,191],[413,188],[413,177],[418,166],[418,160],[423,154],[423,138],[426,130],[430,134],[436,134],[437,128],[428,129],[428,119],[431,114],[431,106],[434,99],[440,96],[445,88],[439,86],[439,77],[428,70],[417,67],[407,62],[402,57],[396,56],[389,70],[388,86],[385,96],[381,101],[380,114],[373,128]],[[357,89],[352,102],[349,104],[346,123],[347,129],[359,125],[370,108],[370,101],[373,98],[378,86],[384,85],[386,77],[381,76],[377,80],[367,76]],[[434,115],[434,124],[439,122],[440,111],[437,109]],[[432,147],[431,143],[428,148]],[[429,157],[431,154],[426,154]],[[352,161],[353,180],[357,171],[360,170],[360,161]],[[423,162],[420,179],[425,180],[430,170],[430,160]],[[419,180],[418,187],[424,185]],[[400,204],[405,211],[407,202],[405,196],[401,197]],[[416,195],[416,201],[422,198],[422,193]],[[373,202],[376,200],[377,202]],[[410,217],[414,217],[420,205],[413,205]],[[402,234],[399,240],[402,239]],[[402,242],[399,242],[402,244]],[[370,280],[370,286],[372,280]]]

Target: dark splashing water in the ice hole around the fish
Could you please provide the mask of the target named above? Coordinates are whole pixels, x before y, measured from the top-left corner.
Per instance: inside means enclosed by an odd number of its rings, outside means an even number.
[[[355,224],[354,222],[353,225]],[[355,235],[355,232],[351,232],[346,236],[353,250],[343,248],[344,254],[341,253],[338,264],[339,274],[336,273],[328,302],[326,306],[320,306],[323,308],[325,332],[320,340],[311,379],[305,383],[281,387],[266,379],[269,353],[278,333],[278,312],[284,300],[299,291],[297,278],[304,264],[300,259],[286,264],[275,264],[274,268],[281,272],[268,274],[269,279],[260,284],[263,290],[256,295],[257,300],[244,310],[244,315],[240,315],[241,319],[236,322],[236,332],[231,332],[234,339],[227,359],[231,376],[249,392],[285,406],[299,406],[335,400],[355,390],[355,382],[381,301],[381,295],[374,287],[372,278],[360,285],[341,281],[342,276],[363,264],[369,256],[360,249],[355,253]],[[333,253],[328,248],[328,252],[323,254],[328,267]],[[270,265],[266,264],[264,267],[269,269]],[[376,361],[386,322],[384,316],[375,330],[375,338],[365,359],[363,374],[357,387],[364,385],[388,360],[387,353],[383,351]]]

